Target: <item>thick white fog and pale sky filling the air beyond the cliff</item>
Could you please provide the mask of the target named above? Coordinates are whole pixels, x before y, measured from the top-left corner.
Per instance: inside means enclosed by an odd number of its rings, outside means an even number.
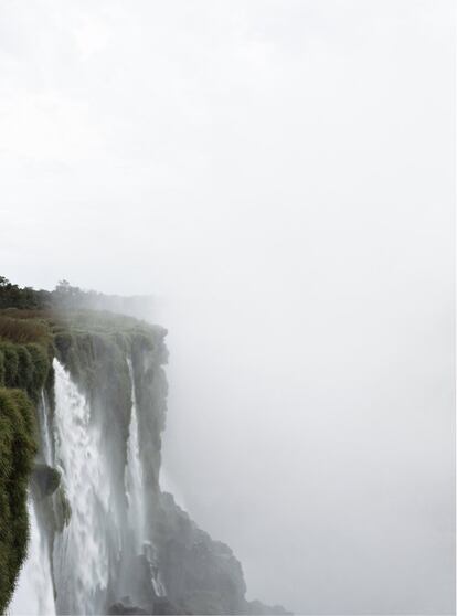
[[[296,613],[454,609],[454,13],[0,4],[0,274],[153,294],[167,486]]]

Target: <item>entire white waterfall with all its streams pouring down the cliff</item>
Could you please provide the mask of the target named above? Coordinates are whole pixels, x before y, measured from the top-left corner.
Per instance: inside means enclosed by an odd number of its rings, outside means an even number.
[[[119,598],[135,603],[139,596],[147,603],[166,596],[157,549],[148,531],[139,410],[130,359],[127,364],[131,413],[126,466],[124,475],[117,477],[109,463],[111,456],[121,454],[113,448],[96,421],[107,411],[104,401],[94,406],[70,372],[56,359],[53,361],[55,410],[51,425],[51,407],[43,392],[38,406],[39,459],[59,469],[61,484],[45,500],[34,503],[30,498],[29,557],[11,604],[11,616],[103,614]],[[98,412],[102,415],[95,416]],[[65,522],[63,502],[70,511]]]

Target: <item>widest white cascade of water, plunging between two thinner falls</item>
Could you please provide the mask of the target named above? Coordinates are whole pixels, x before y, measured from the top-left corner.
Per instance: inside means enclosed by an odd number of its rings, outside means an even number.
[[[99,455],[100,434],[91,424],[91,408],[68,372],[54,360],[55,463],[71,503],[72,517],[54,543],[57,609],[94,614],[96,595],[108,582],[109,481]]]

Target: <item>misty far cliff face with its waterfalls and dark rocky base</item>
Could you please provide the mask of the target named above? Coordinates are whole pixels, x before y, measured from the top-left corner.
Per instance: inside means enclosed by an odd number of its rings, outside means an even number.
[[[160,490],[166,331],[91,311],[33,318],[52,361],[35,392],[30,503],[49,572],[42,610],[285,614],[246,602],[230,548]]]

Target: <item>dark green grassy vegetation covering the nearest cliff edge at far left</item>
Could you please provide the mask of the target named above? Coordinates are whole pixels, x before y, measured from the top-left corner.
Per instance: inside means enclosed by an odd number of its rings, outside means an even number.
[[[49,382],[52,336],[41,318],[0,311],[0,613],[29,540],[28,487],[38,452],[34,405]]]

